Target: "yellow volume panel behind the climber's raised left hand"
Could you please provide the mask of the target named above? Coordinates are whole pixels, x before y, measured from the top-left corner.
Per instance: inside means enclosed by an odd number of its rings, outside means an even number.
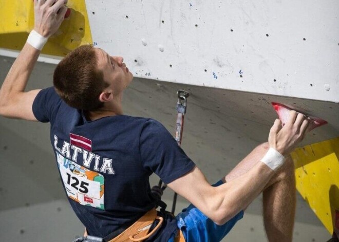
[[[59,30],[49,38],[42,52],[64,56],[82,44],[92,44],[85,0],[68,1],[71,10]],[[32,0],[0,1],[0,48],[21,50],[34,28]]]

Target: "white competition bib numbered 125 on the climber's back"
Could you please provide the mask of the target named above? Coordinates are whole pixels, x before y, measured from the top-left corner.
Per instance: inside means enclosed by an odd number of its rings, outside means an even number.
[[[104,210],[104,176],[55,153],[68,197]]]

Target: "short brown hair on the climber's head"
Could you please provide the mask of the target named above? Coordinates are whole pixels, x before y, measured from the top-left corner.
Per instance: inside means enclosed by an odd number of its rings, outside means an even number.
[[[71,107],[82,110],[102,107],[99,96],[108,83],[98,69],[95,48],[82,45],[68,53],[54,70],[53,85]]]

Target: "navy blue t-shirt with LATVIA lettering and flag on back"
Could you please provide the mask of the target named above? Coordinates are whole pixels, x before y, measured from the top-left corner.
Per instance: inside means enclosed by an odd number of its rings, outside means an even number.
[[[41,90],[32,108],[37,120],[50,122],[65,192],[90,235],[105,237],[154,208],[152,173],[170,183],[195,166],[156,120],[117,115],[87,121],[53,87]],[[164,217],[147,241],[167,241],[177,229],[175,218]]]

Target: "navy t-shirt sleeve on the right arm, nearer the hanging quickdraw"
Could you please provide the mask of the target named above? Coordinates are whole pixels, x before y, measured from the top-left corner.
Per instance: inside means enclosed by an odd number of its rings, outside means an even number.
[[[148,119],[140,135],[140,156],[145,169],[170,183],[190,172],[195,164],[158,121]]]

